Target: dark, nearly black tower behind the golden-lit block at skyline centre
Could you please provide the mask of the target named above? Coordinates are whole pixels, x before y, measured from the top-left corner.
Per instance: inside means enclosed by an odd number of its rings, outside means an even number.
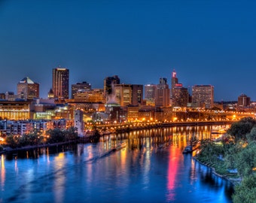
[[[107,103],[114,102],[114,85],[120,84],[120,79],[117,75],[105,77],[104,79],[104,95]]]

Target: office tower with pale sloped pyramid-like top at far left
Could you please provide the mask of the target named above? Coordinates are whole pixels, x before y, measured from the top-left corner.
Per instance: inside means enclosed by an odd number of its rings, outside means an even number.
[[[17,83],[17,95],[25,100],[39,98],[39,84],[34,83],[29,77],[24,77]]]

